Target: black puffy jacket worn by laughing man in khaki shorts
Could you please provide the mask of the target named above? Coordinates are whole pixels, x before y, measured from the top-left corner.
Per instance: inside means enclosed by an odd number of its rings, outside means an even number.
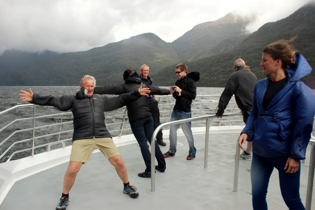
[[[105,126],[104,111],[113,111],[140,97],[138,91],[122,94],[115,97],[93,94],[91,97],[77,99],[75,96],[41,96],[33,95],[31,103],[49,105],[60,111],[71,110],[73,114],[72,141],[77,139],[110,137]]]

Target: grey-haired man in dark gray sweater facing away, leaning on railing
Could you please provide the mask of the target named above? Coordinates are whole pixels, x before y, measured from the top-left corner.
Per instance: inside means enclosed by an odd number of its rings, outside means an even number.
[[[243,114],[243,121],[246,123],[252,109],[253,92],[258,81],[255,74],[245,68],[245,61],[237,59],[234,61],[235,72],[226,82],[223,93],[219,100],[218,111],[215,113],[218,118],[222,118],[224,110],[232,95],[235,96],[236,104]],[[247,142],[247,148],[240,154],[240,159],[251,160],[252,143]]]

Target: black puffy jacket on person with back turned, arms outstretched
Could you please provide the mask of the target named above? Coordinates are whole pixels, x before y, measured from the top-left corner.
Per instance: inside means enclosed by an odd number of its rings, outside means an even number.
[[[95,87],[94,93],[97,94],[124,94],[130,93],[139,89],[140,84],[142,83],[141,79],[136,76],[130,76],[126,78],[126,82],[124,84],[111,84],[105,85],[103,87]],[[169,89],[162,89],[156,86],[147,86],[145,84],[141,84],[143,88],[150,88],[152,95],[168,95],[170,94]],[[142,96],[139,99],[135,100],[126,105],[128,110],[128,118],[129,122],[134,122],[137,120],[142,120],[148,116],[151,116],[152,113],[148,107],[146,96]]]

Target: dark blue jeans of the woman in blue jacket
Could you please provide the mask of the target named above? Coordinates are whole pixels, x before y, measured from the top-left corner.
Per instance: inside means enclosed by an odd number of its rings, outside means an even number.
[[[300,167],[296,173],[285,173],[285,163],[288,158],[267,158],[257,155],[253,151],[253,160],[250,171],[250,179],[252,182],[252,201],[254,210],[267,209],[266,195],[269,184],[270,175],[273,168],[277,168],[279,172],[279,182],[281,195],[285,204],[292,209],[305,209],[300,198]]]

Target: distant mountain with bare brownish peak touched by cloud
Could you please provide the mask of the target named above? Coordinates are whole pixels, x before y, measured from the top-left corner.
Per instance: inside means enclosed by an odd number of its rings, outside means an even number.
[[[172,42],[178,56],[185,61],[194,61],[235,47],[249,35],[244,30],[249,19],[234,13],[199,24]]]

